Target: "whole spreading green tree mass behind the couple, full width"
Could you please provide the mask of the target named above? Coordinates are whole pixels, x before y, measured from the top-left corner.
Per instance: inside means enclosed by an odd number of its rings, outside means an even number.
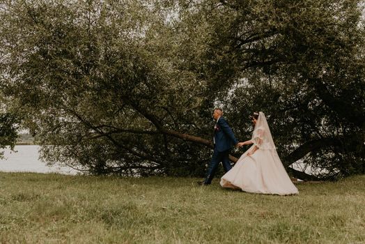
[[[357,3],[7,1],[0,86],[48,162],[92,174],[203,174],[218,104],[240,139],[265,112],[286,166],[363,173]]]

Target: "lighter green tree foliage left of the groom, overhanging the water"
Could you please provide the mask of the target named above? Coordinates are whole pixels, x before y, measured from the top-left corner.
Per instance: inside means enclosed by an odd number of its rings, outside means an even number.
[[[154,114],[165,128],[205,133],[193,119],[198,113],[188,116],[200,109],[201,82],[169,61],[160,40],[171,29],[150,8],[130,1],[3,6],[1,53],[9,59],[1,63],[1,87],[18,98],[13,106],[48,162],[92,174],[203,171],[201,147],[162,135],[146,119]]]

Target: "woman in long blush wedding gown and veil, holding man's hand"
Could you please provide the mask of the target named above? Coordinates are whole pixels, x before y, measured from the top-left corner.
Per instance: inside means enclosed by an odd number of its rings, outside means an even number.
[[[265,114],[255,112],[252,121],[255,128],[251,140],[240,142],[239,146],[253,145],[222,176],[222,187],[263,194],[297,194],[297,188],[277,155]]]

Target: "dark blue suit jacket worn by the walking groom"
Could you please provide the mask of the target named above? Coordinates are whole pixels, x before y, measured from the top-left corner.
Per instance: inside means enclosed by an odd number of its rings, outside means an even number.
[[[235,144],[238,144],[238,140],[235,139],[233,131],[222,116],[218,119],[218,122],[216,124],[214,139],[215,148],[219,152],[227,151],[231,149],[231,147]]]

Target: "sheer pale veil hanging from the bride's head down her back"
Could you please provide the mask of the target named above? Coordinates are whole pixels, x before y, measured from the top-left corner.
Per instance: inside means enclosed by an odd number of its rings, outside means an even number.
[[[274,140],[272,139],[270,128],[269,125],[267,125],[263,112],[258,113],[258,119],[254,132],[252,133],[251,142],[258,146],[258,148],[276,151]]]

